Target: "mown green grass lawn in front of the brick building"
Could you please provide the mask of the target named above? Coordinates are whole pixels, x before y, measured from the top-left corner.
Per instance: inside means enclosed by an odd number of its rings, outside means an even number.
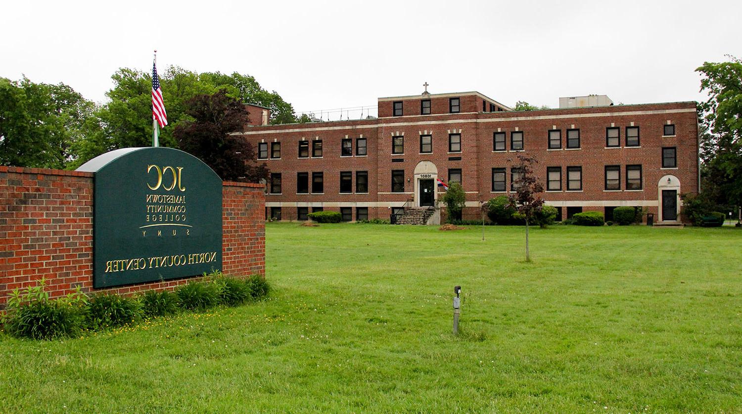
[[[0,334],[4,412],[742,410],[742,231],[266,228],[261,303]],[[462,285],[462,334],[451,331]]]

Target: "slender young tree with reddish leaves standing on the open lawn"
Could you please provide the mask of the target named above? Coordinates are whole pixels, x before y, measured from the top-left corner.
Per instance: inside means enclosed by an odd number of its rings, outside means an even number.
[[[525,219],[525,261],[531,262],[531,254],[528,251],[528,222],[533,221],[536,214],[541,211],[544,199],[539,196],[544,192],[544,186],[539,183],[533,172],[533,165],[538,164],[536,158],[526,155],[518,155],[516,172],[518,178],[513,182],[516,193],[508,196],[508,205],[515,208]]]

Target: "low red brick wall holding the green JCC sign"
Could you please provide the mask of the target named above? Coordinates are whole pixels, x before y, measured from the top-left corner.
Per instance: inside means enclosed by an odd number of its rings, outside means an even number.
[[[223,183],[223,271],[265,274],[265,198],[260,184]],[[0,166],[0,308],[15,288],[45,277],[52,297],[127,294],[194,278],[93,289],[93,174]],[[197,278],[196,278],[197,279]]]

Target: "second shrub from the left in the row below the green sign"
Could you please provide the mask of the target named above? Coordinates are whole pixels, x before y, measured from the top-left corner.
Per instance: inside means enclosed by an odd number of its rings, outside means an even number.
[[[85,309],[85,324],[96,330],[134,323],[141,317],[142,304],[138,300],[117,294],[93,296]]]

